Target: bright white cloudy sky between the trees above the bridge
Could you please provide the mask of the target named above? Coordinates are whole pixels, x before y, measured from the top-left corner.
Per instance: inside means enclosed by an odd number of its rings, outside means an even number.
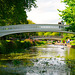
[[[29,20],[36,24],[58,24],[61,21],[57,9],[64,10],[65,4],[61,0],[37,0],[37,8],[27,12]]]

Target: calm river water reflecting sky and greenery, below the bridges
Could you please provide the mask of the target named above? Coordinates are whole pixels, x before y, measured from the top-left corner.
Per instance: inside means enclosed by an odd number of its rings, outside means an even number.
[[[75,75],[75,49],[67,46],[44,45],[0,56],[0,75]]]

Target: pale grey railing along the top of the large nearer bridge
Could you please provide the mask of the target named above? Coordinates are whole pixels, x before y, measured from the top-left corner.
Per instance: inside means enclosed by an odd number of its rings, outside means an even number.
[[[65,25],[55,25],[55,24],[25,24],[25,25],[10,25],[10,26],[0,26],[0,30],[30,30],[30,29],[62,29],[64,30]]]

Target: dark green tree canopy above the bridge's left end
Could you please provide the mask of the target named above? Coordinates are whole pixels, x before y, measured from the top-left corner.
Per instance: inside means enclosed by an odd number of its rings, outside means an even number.
[[[0,26],[27,24],[26,10],[36,7],[36,0],[0,0]]]

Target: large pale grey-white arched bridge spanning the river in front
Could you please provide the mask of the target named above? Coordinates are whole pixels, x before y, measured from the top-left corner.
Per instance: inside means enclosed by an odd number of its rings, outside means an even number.
[[[21,24],[21,25],[9,25],[0,26],[0,37],[23,32],[64,32],[64,33],[74,33],[65,31],[65,27],[69,25],[62,24]]]

